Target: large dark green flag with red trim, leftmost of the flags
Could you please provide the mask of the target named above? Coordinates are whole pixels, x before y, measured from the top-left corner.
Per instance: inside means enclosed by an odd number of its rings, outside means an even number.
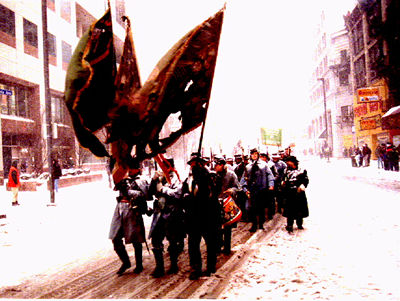
[[[108,156],[94,133],[109,122],[115,98],[115,51],[111,11],[94,22],[80,39],[68,66],[65,102],[82,147],[99,157]]]

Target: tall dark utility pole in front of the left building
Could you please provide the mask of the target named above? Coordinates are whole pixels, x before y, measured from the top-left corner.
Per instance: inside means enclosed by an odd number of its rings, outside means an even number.
[[[50,98],[50,74],[49,74],[49,49],[47,39],[47,0],[42,0],[42,31],[43,31],[43,76],[44,76],[44,98],[46,111],[46,133],[47,133],[47,165],[49,168],[50,205],[54,205],[54,182],[53,164],[51,153],[53,149],[53,131],[51,120],[51,98]]]

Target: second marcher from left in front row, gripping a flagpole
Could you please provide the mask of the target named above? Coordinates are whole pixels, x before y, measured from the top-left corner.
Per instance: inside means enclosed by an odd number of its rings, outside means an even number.
[[[173,159],[168,159],[168,161],[173,168]],[[156,172],[150,184],[151,194],[156,196],[153,221],[149,232],[156,261],[156,268],[151,274],[154,278],[165,274],[164,238],[166,237],[169,242],[170,268],[168,274],[176,274],[179,270],[178,256],[183,251],[186,236],[181,199],[182,183],[173,169],[169,171],[169,179],[170,182],[160,172]]]

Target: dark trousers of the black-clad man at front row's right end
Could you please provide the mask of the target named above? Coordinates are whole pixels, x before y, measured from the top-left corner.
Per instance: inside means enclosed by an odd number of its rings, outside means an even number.
[[[202,260],[200,243],[201,239],[204,238],[207,248],[207,270],[215,271],[217,264],[217,241],[218,232],[217,225],[215,230],[200,230],[198,228],[190,229],[188,235],[188,246],[189,246],[189,260],[190,266],[193,270],[201,272]]]

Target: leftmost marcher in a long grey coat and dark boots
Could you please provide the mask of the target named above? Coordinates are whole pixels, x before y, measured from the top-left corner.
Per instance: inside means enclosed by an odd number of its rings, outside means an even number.
[[[114,250],[122,261],[117,274],[123,274],[131,267],[125,244],[133,244],[135,249],[136,267],[135,274],[143,271],[142,243],[145,242],[145,228],[142,214],[147,212],[147,195],[149,183],[140,176],[140,164],[136,160],[129,163],[128,177],[115,185],[114,190],[119,190],[117,206],[111,222],[109,238],[112,240]]]

